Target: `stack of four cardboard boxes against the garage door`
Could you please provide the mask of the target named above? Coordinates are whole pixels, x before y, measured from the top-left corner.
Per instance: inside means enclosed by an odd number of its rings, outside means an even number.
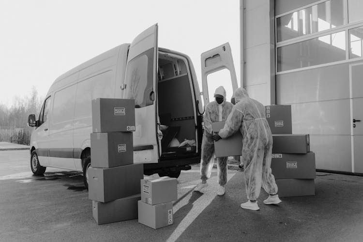
[[[266,106],[273,137],[271,169],[279,197],[315,195],[315,153],[309,135],[293,135],[291,106]]]

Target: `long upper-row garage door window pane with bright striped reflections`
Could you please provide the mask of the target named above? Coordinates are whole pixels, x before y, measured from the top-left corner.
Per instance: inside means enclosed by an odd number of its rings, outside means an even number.
[[[277,42],[344,24],[343,0],[329,0],[276,19]]]

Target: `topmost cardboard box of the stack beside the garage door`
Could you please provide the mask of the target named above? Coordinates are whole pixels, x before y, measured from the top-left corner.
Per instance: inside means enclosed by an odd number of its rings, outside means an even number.
[[[292,134],[291,105],[265,106],[272,134]]]

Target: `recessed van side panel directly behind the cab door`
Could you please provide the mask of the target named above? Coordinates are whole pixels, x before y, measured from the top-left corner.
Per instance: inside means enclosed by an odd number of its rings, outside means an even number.
[[[54,94],[52,123],[73,120],[75,113],[76,85],[72,85]]]

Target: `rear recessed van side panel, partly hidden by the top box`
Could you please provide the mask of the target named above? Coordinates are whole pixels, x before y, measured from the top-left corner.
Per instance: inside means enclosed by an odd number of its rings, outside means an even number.
[[[92,99],[114,97],[113,79],[112,71],[108,71],[77,84],[75,119],[91,117]]]

